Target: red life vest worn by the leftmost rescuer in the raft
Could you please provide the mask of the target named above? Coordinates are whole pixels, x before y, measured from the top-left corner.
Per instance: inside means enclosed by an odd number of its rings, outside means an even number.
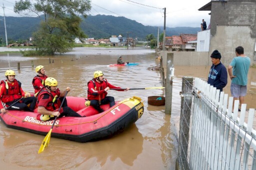
[[[4,88],[5,88],[4,94],[2,95],[2,98],[1,98],[3,103],[12,102],[22,97],[22,95],[20,95],[21,82],[14,79],[13,83],[8,83],[7,80],[2,80],[0,82],[0,85],[2,83],[4,83]],[[7,83],[8,89],[6,88],[6,83]]]

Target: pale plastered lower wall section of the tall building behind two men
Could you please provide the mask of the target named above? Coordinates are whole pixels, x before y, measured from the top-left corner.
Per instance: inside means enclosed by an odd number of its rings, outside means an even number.
[[[235,48],[243,46],[244,54],[251,58],[253,64],[256,38],[251,37],[250,26],[217,26],[216,34],[211,37],[209,54],[214,50],[221,53],[221,62],[228,66],[236,57]]]

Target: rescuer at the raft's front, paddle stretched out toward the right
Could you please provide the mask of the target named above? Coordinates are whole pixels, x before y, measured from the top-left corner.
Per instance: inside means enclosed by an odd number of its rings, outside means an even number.
[[[99,113],[104,112],[100,107],[102,104],[109,103],[110,107],[115,105],[115,99],[112,96],[106,96],[109,89],[121,89],[121,87],[116,87],[110,84],[106,79],[104,79],[104,74],[102,71],[95,71],[94,78],[90,80],[88,84],[88,101],[86,101],[87,106],[93,106]],[[118,91],[127,91],[125,90]]]

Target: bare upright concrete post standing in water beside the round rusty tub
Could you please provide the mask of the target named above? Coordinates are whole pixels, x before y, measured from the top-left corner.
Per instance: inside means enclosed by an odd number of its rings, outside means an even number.
[[[165,81],[165,114],[172,112],[173,96],[173,53],[167,54],[166,81]]]

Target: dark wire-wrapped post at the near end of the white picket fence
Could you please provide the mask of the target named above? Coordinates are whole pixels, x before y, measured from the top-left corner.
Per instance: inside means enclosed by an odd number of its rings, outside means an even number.
[[[180,124],[179,124],[179,164],[182,169],[189,169],[187,162],[188,156],[188,140],[189,140],[189,126],[190,113],[192,105],[192,87],[193,77],[182,78],[182,92],[181,92],[181,110],[180,110]]]

